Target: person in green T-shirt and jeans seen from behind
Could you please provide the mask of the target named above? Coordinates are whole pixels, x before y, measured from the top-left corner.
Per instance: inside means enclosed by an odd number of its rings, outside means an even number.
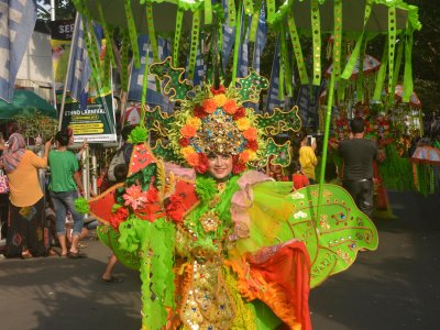
[[[61,256],[73,258],[84,257],[78,251],[78,242],[82,231],[82,215],[75,209],[75,199],[78,197],[77,188],[84,191],[82,183],[79,177],[78,160],[75,154],[67,151],[69,135],[67,132],[59,131],[55,135],[56,150],[48,155],[51,166],[51,199],[56,213],[56,234],[61,245]],[[66,244],[66,211],[70,211],[74,218],[74,231],[72,233],[72,245],[67,251]]]

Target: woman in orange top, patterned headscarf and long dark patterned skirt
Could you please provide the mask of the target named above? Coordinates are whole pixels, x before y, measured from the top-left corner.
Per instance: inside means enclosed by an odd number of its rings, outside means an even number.
[[[38,182],[38,168],[47,167],[52,140],[44,147],[43,157],[25,148],[23,135],[9,138],[0,164],[9,179],[10,212],[8,220],[7,255],[30,258],[54,252],[44,241],[44,195]]]

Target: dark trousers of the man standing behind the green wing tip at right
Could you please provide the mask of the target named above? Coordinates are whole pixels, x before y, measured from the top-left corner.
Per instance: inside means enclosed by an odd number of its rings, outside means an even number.
[[[365,180],[344,180],[342,183],[359,209],[371,217],[374,211],[374,184],[372,179]]]

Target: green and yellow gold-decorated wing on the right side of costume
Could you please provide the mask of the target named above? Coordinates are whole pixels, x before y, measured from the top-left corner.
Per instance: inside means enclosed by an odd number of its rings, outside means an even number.
[[[292,183],[263,183],[253,187],[248,210],[250,238],[239,240],[240,253],[254,252],[292,239],[305,242],[311,261],[310,286],[346,270],[360,249],[377,249],[377,230],[340,186],[323,186],[323,202],[316,219],[318,185],[292,194]]]

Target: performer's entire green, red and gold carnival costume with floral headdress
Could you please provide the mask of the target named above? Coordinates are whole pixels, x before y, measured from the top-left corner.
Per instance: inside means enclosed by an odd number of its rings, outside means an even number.
[[[248,166],[266,157],[263,130],[244,102],[267,81],[251,73],[239,87],[191,89],[168,59],[151,68],[182,100],[168,138],[191,169],[164,163],[135,143],[125,183],[89,201],[100,239],[142,278],[143,329],[310,329],[309,287],[348,268],[377,232],[339,186],[292,193]],[[216,180],[209,154],[228,154],[233,170]]]

